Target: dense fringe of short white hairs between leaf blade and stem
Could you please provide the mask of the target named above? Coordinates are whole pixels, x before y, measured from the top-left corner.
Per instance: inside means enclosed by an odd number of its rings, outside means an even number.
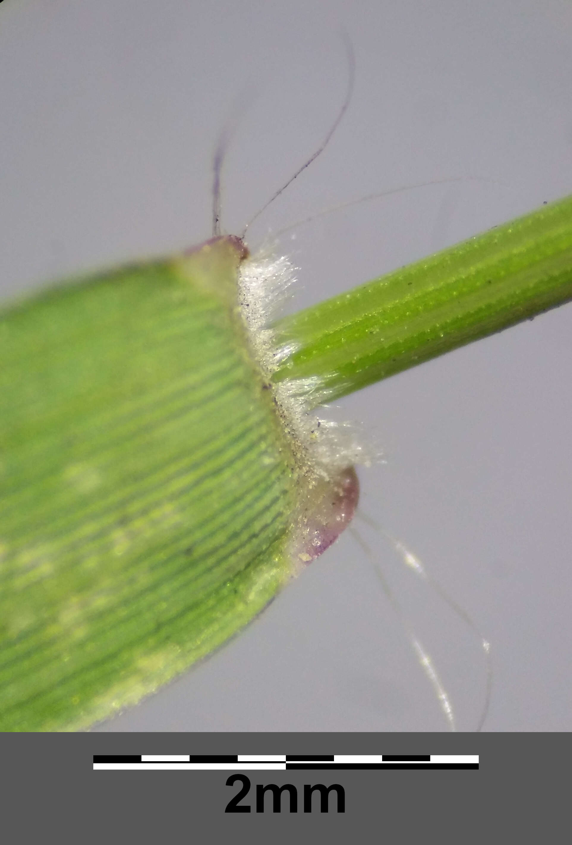
[[[377,452],[373,455],[373,450],[364,448],[364,439],[355,424],[337,423],[309,410],[318,404],[327,408],[324,406],[330,396],[327,379],[311,376],[272,382],[280,363],[296,351],[294,344],[281,346],[277,343],[272,329],[279,309],[291,296],[294,282],[294,268],[290,261],[284,255],[272,254],[269,247],[242,262],[238,275],[238,299],[254,356],[286,418],[286,428],[312,455],[318,472],[330,477],[332,472],[346,466],[368,466],[373,457],[379,455]]]

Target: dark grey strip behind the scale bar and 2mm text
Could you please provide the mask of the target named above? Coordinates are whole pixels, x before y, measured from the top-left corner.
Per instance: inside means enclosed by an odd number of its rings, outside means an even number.
[[[189,738],[179,733],[155,733],[144,737],[144,744],[152,752],[161,749],[175,752],[192,739],[200,750],[224,750],[248,747],[261,750],[299,747],[303,734],[253,734],[252,737],[224,733],[196,733]],[[526,742],[523,742],[523,739]],[[164,836],[166,826],[175,835],[189,835],[189,830],[209,825],[211,833],[237,834],[248,831],[253,842],[291,842],[293,833],[310,841],[317,833],[327,834],[331,842],[347,842],[355,835],[356,826],[373,827],[383,824],[384,830],[398,828],[407,839],[419,838],[423,831],[439,830],[444,842],[458,841],[458,831],[470,830],[475,841],[482,841],[490,831],[493,814],[495,830],[518,831],[520,824],[527,829],[554,830],[564,819],[565,784],[558,777],[547,777],[553,771],[554,758],[563,752],[560,736],[528,735],[520,738],[506,736],[471,736],[460,734],[370,734],[328,733],[316,735],[316,748],[335,742],[344,750],[367,750],[372,743],[379,748],[397,751],[434,748],[439,743],[447,750],[478,750],[482,771],[478,772],[411,772],[395,770],[343,771],[336,777],[311,777],[308,771],[249,772],[251,804],[257,783],[293,783],[302,791],[304,783],[339,782],[346,790],[346,813],[339,815],[318,812],[297,815],[283,811],[280,816],[271,812],[237,815],[225,814],[226,803],[237,792],[226,787],[228,772],[146,772],[139,777],[133,772],[93,771],[92,751],[121,749],[133,752],[140,748],[142,738],[133,733],[81,734],[9,734],[4,738],[4,760],[11,760],[5,818],[14,818],[19,830],[34,836],[45,830],[46,824],[59,825],[64,842],[73,841],[74,832],[89,820],[90,841],[109,837],[109,831],[129,831],[141,842],[156,842]],[[534,761],[536,766],[531,765]],[[318,773],[316,773],[318,774]],[[272,777],[253,777],[271,775]],[[23,786],[27,787],[22,788]],[[11,794],[12,793],[12,794]],[[30,795],[34,797],[34,812],[30,812]],[[63,813],[63,798],[66,812]],[[255,800],[255,799],[254,799]],[[490,813],[477,812],[486,806]],[[94,807],[98,812],[94,812]],[[539,813],[547,808],[550,815]],[[558,812],[559,811],[559,812]],[[248,819],[248,821],[245,821]],[[68,833],[69,831],[69,833]],[[29,837],[30,838],[30,837]],[[469,837],[470,841],[471,837]]]

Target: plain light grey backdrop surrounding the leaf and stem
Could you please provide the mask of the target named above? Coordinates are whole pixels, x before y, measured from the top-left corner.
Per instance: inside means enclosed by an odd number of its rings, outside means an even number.
[[[4,0],[2,296],[210,235],[210,157],[237,232],[350,110],[249,233],[407,183],[467,177],[283,237],[297,307],[572,192],[572,4]],[[471,179],[469,177],[478,177]],[[348,397],[386,463],[362,507],[414,549],[493,644],[485,729],[572,728],[570,353],[565,306]],[[360,529],[432,653],[459,728],[477,722],[476,639]],[[349,534],[236,640],[101,730],[426,731],[444,718]]]

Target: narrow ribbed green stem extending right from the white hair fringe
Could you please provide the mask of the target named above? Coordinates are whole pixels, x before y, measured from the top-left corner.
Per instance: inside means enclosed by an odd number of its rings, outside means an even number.
[[[572,196],[276,325],[275,380],[333,400],[572,299]]]

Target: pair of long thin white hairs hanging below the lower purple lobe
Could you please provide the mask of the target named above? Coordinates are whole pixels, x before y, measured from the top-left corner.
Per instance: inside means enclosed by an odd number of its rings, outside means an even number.
[[[403,563],[410,570],[412,570],[417,575],[417,577],[421,578],[422,581],[425,581],[425,583],[428,584],[428,586],[430,586],[438,594],[438,596],[449,606],[449,608],[451,608],[451,610],[455,613],[455,615],[458,616],[459,619],[461,619],[467,625],[467,627],[473,632],[473,634],[477,635],[477,638],[480,641],[482,652],[483,652],[484,657],[485,657],[485,667],[486,667],[486,686],[485,686],[484,700],[483,700],[483,705],[482,705],[482,711],[480,713],[480,717],[479,717],[479,720],[477,722],[477,728],[475,728],[477,733],[480,732],[482,730],[482,726],[485,722],[485,719],[488,716],[488,708],[490,706],[491,690],[492,690],[492,685],[493,685],[493,666],[492,666],[492,662],[491,662],[490,642],[487,640],[486,637],[484,637],[482,635],[481,631],[478,630],[477,625],[471,619],[471,616],[469,616],[469,614],[466,613],[466,610],[464,608],[461,608],[460,605],[457,602],[455,602],[455,599],[452,598],[451,596],[449,596],[449,593],[444,590],[444,587],[441,586],[439,581],[437,581],[437,579],[433,578],[433,575],[430,575],[428,573],[428,570],[422,564],[422,561],[417,557],[416,554],[412,553],[411,550],[409,548],[407,548],[406,545],[403,542],[396,539],[389,532],[387,532],[383,528],[381,528],[376,521],[374,521],[368,515],[364,514],[361,510],[357,510],[356,515],[357,515],[358,518],[360,518],[367,525],[375,528],[376,531],[378,531],[380,534],[382,534],[383,537],[385,537],[385,539],[388,542],[390,542],[390,545],[395,549],[395,552],[397,552],[400,555],[400,558],[403,561]],[[351,526],[350,526],[349,530],[352,531]],[[370,559],[371,563],[373,564],[373,568],[374,568],[376,574],[378,575],[379,580],[381,581],[384,592],[385,592],[386,596],[388,597],[388,599],[391,603],[391,606],[394,608],[395,613],[397,614],[398,618],[400,619],[400,623],[402,624],[402,626],[406,630],[407,638],[410,642],[410,645],[411,645],[413,651],[415,651],[415,653],[417,655],[417,660],[421,664],[423,671],[425,672],[425,674],[428,677],[429,682],[433,686],[433,690],[435,691],[435,694],[437,695],[437,698],[438,698],[438,701],[439,701],[439,706],[441,707],[441,710],[444,713],[444,717],[447,720],[449,728],[450,728],[450,730],[455,731],[455,717],[454,717],[451,702],[449,700],[449,695],[447,695],[447,693],[444,690],[444,686],[441,683],[441,680],[439,679],[439,674],[437,673],[437,671],[435,669],[435,666],[433,664],[433,661],[431,660],[431,657],[429,657],[428,652],[425,651],[425,649],[423,648],[423,646],[421,645],[421,643],[417,639],[417,635],[415,634],[415,631],[412,629],[411,625],[407,621],[402,609],[400,608],[399,603],[395,600],[395,597],[393,596],[393,593],[390,590],[390,587],[389,587],[389,585],[388,585],[388,583],[387,583],[387,581],[384,577],[384,574],[379,569],[379,563],[373,557],[373,553],[371,552],[371,549],[368,547],[368,544],[362,540],[362,537],[360,537],[360,535],[355,531],[355,529],[352,531],[352,533],[353,533],[353,536],[356,537],[357,542],[359,542],[359,544],[362,546],[362,548],[368,553],[368,558]]]

